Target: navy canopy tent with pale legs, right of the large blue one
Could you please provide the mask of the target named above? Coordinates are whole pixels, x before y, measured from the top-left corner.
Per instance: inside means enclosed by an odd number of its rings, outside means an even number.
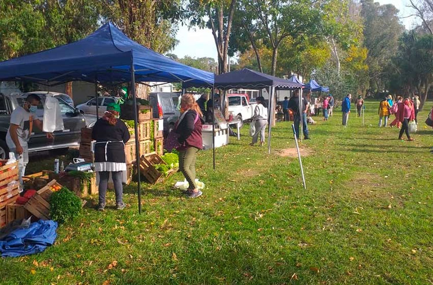
[[[205,86],[203,86],[203,84],[200,85],[194,82],[183,83],[182,88],[188,88],[188,87],[205,87]],[[224,74],[216,75],[213,87],[216,89],[224,90],[224,94],[226,93],[226,90],[232,88],[250,88],[250,89],[268,88],[268,94],[269,94],[268,153],[270,154],[271,153],[271,123],[272,123],[271,114],[272,114],[272,106],[275,100],[274,98],[275,89],[284,89],[284,90],[301,89],[302,83],[291,82],[290,80],[287,79],[275,77],[255,70],[244,68],[241,70],[235,70]],[[212,97],[212,99],[214,98]],[[224,102],[224,100],[221,99],[221,102]],[[215,151],[215,148],[213,148],[213,151]]]

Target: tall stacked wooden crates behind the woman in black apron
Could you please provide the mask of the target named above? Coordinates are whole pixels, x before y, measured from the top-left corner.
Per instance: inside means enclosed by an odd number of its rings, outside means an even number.
[[[130,108],[132,109],[132,107]],[[126,110],[122,108],[122,110]],[[122,111],[122,112],[123,112]],[[137,106],[138,115],[138,136],[139,136],[139,151],[142,155],[158,154],[162,155],[164,151],[163,132],[159,131],[160,120],[152,117],[152,107]],[[122,115],[122,118],[133,119],[133,109]],[[161,120],[162,123],[162,120]],[[130,170],[136,162],[136,141],[134,128],[129,129],[131,138],[125,144],[126,166]],[[87,162],[94,162],[94,153],[91,150],[92,129],[81,129],[81,144],[80,156]]]

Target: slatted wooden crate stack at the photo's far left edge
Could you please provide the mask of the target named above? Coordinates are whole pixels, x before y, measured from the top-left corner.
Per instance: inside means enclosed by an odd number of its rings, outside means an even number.
[[[0,227],[6,225],[6,206],[15,203],[19,196],[18,162],[5,164],[0,160]]]

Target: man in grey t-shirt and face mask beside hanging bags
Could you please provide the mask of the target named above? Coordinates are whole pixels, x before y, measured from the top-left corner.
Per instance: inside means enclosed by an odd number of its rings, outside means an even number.
[[[42,130],[42,121],[36,118],[36,110],[41,102],[41,98],[36,94],[30,94],[26,98],[22,107],[13,110],[10,115],[10,125],[6,134],[6,144],[9,150],[15,153],[18,160],[19,182],[23,184],[23,176],[26,171],[26,165],[29,162],[29,141],[33,125]],[[53,139],[51,133],[46,133],[49,140]]]

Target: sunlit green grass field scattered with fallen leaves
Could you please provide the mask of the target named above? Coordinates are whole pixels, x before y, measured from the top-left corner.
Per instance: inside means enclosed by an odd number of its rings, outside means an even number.
[[[364,127],[354,112],[348,128],[338,110],[317,119],[301,144],[307,190],[297,158],[282,156],[294,147],[289,123],[273,129],[271,155],[248,146],[246,126],[216,150],[216,171],[200,153],[199,199],[171,189],[180,173],[143,183],[142,215],[134,184],[123,211],[97,212],[94,197],[44,253],[0,259],[0,283],[433,284],[431,105],[413,142],[378,128],[378,102]]]

